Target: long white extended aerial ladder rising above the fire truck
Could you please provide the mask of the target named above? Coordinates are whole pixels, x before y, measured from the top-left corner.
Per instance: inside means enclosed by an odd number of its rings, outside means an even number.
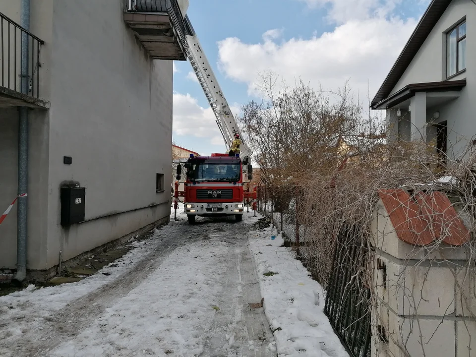
[[[230,148],[234,140],[233,135],[238,133],[241,139],[239,156],[243,161],[250,161],[252,151],[243,140],[243,136],[241,135],[235,117],[233,116],[220,84],[218,84],[215,73],[213,73],[212,66],[203,52],[198,36],[193,29],[188,15],[185,16],[185,30],[186,41],[188,44],[188,49],[185,50],[187,59],[190,61],[198,82],[205,93],[208,104],[215,114],[217,125],[222,133],[223,139],[225,140],[225,145]]]

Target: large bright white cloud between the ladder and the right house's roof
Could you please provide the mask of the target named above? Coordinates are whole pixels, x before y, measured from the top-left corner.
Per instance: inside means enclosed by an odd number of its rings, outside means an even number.
[[[304,1],[304,0],[301,0]],[[328,5],[329,14],[342,9],[353,19],[337,26],[334,31],[309,39],[292,38],[279,42],[267,31],[262,43],[244,43],[227,38],[218,43],[219,65],[226,75],[246,83],[248,94],[256,95],[259,72],[272,70],[289,84],[299,77],[317,88],[342,87],[347,79],[360,100],[366,102],[368,81],[373,98],[392,64],[416,26],[416,19],[402,20],[387,15],[397,0],[388,0],[387,8],[376,9],[379,0],[305,0],[310,5]],[[361,14],[360,3],[365,9]],[[380,11],[380,12],[379,12]],[[271,34],[276,35],[272,30]]]

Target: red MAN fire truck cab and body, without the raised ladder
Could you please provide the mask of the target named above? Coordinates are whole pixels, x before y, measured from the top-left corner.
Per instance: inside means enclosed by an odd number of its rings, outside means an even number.
[[[245,206],[244,198],[252,198],[255,192],[243,192],[243,183],[253,178],[251,163],[239,156],[212,154],[193,156],[190,154],[183,167],[186,169],[184,191],[175,184],[175,209],[178,198],[183,197],[184,212],[188,222],[195,223],[196,216],[235,216],[241,221]],[[177,167],[177,179],[181,179],[181,165]],[[253,195],[254,193],[254,195]],[[253,208],[255,208],[253,206]]]

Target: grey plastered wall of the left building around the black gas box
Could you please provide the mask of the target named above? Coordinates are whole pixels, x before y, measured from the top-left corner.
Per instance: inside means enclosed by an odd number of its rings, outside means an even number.
[[[0,11],[8,6],[2,1]],[[19,21],[18,10],[4,13]],[[31,32],[46,43],[40,93],[51,108],[30,112],[28,269],[48,269],[60,250],[67,260],[169,216],[173,65],[151,60],[122,16],[122,0],[32,1]],[[14,138],[17,113],[8,116],[0,121],[10,120],[5,135]],[[1,203],[16,194],[10,141],[0,144],[0,158],[11,161],[0,174]],[[156,192],[157,173],[164,192]],[[112,215],[62,228],[65,181],[86,187],[86,220]],[[16,210],[11,216],[1,226],[0,268],[16,263]]]

